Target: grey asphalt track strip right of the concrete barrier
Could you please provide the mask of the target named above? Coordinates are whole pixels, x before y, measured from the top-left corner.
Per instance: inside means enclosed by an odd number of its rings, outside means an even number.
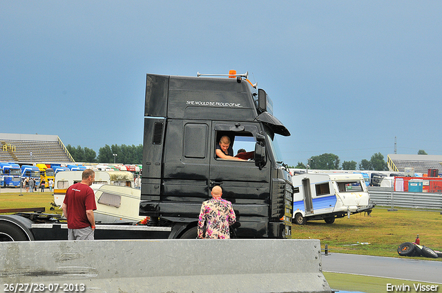
[[[442,261],[332,253],[322,263],[324,272],[442,284]]]

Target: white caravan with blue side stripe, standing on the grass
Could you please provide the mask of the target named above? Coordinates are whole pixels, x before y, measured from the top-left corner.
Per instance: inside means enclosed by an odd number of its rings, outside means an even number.
[[[367,186],[362,174],[298,174],[294,185],[293,223],[304,225],[311,220],[334,219],[372,212]]]

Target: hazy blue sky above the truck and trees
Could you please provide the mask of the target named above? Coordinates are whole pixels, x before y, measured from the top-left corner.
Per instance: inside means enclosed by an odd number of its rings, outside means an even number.
[[[0,132],[138,145],[146,73],[249,71],[291,132],[325,152],[442,154],[442,1],[0,0]]]

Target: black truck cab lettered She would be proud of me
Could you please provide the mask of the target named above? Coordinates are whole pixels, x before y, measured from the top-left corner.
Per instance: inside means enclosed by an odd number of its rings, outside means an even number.
[[[140,215],[171,226],[169,238],[195,238],[202,201],[220,185],[233,203],[238,238],[291,235],[291,175],[277,158],[274,137],[290,132],[273,117],[266,92],[241,76],[147,74]],[[243,160],[220,159],[228,136]]]

